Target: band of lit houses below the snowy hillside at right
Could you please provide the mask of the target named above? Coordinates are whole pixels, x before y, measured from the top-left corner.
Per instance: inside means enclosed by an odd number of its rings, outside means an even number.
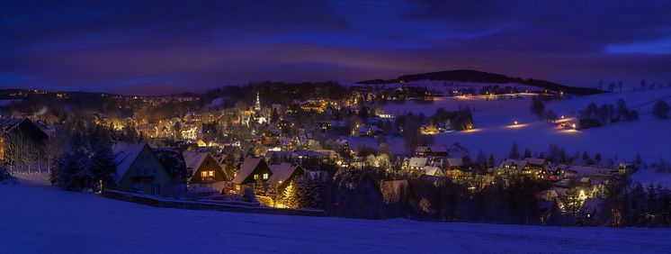
[[[495,177],[532,177],[550,184],[549,189],[537,194],[541,203],[548,206],[546,208],[550,209],[554,204],[564,208],[568,205],[565,204],[567,200],[577,200],[578,206],[582,207],[580,213],[590,219],[598,212],[600,206],[597,204],[603,203],[604,185],[634,170],[631,163],[621,163],[619,168],[613,169],[523,158],[503,159],[497,165],[488,165],[486,173],[475,174],[473,165],[465,164],[462,156],[463,151],[458,147],[418,147],[412,157],[403,160],[403,168],[418,171],[424,179],[451,177],[473,185],[491,183]],[[576,194],[577,197],[568,198],[568,195]]]

